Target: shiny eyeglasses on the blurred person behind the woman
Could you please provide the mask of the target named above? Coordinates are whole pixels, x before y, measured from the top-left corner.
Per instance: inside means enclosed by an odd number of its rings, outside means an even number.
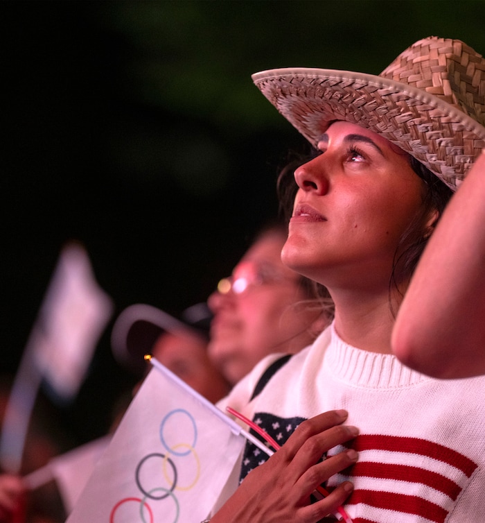
[[[255,286],[280,282],[297,283],[297,280],[277,272],[272,266],[257,265],[248,261],[239,264],[233,275],[222,278],[218,283],[218,291],[221,294],[231,291],[234,294],[243,294]]]

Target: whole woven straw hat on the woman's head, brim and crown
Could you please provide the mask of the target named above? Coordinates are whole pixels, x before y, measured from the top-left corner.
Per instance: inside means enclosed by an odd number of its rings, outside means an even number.
[[[252,78],[313,146],[332,121],[357,123],[452,189],[485,147],[485,60],[460,40],[419,40],[379,76],[292,67]]]

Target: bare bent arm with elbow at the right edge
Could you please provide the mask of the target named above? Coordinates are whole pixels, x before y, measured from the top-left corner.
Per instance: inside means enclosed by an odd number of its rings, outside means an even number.
[[[400,307],[398,358],[436,377],[485,372],[485,155],[446,208]],[[483,355],[482,355],[483,352]]]

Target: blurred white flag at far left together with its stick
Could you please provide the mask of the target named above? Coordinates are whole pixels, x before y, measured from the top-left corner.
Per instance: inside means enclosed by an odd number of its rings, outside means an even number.
[[[22,354],[10,391],[0,438],[0,464],[19,472],[30,415],[42,381],[54,400],[76,397],[98,338],[112,314],[89,257],[69,243],[60,258]]]

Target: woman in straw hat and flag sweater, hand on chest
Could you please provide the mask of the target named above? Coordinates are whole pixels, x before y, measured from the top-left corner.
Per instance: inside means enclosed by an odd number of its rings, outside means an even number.
[[[411,370],[391,353],[391,335],[421,252],[485,146],[485,60],[429,37],[379,76],[298,68],[253,78],[315,148],[294,171],[282,259],[326,286],[335,317],[254,399],[276,356],[220,404],[285,445],[266,463],[247,445],[244,481],[229,481],[211,523],[315,523],[340,504],[354,523],[484,520],[485,377]],[[414,291],[406,307],[436,334],[439,304],[419,299]],[[330,494],[315,501],[324,482]]]

